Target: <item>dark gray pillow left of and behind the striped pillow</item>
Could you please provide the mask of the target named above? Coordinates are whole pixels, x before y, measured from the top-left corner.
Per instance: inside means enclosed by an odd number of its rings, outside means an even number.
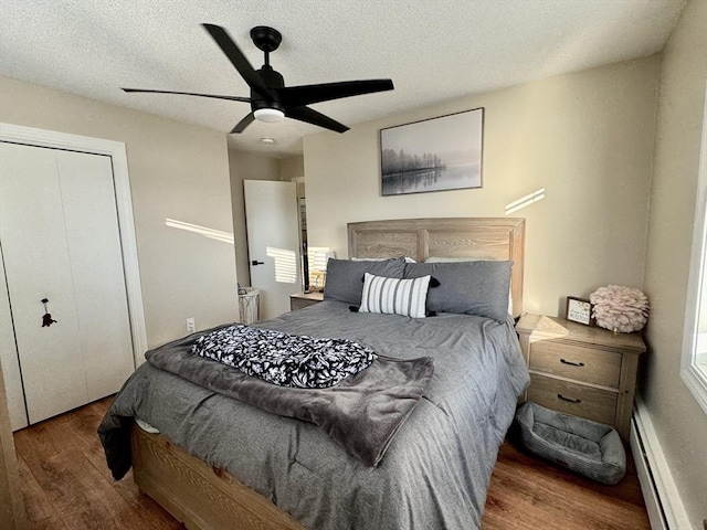
[[[366,273],[387,278],[402,278],[404,271],[405,259],[403,257],[382,262],[352,262],[329,258],[327,263],[327,280],[324,284],[324,299],[360,306],[361,294],[363,293],[363,275]]]

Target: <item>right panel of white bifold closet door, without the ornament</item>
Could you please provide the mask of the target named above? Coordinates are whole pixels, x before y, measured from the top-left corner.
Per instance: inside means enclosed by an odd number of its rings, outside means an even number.
[[[57,151],[88,401],[133,372],[133,338],[110,158]]]

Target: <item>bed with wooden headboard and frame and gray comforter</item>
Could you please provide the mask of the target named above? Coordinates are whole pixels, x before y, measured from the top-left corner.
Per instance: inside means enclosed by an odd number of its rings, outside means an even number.
[[[478,528],[498,447],[528,384],[510,318],[523,307],[524,230],[524,220],[508,218],[348,225],[349,257],[404,256],[420,262],[405,265],[420,275],[430,267],[422,265],[431,257],[511,262],[506,318],[356,312],[360,307],[337,299],[334,289],[320,304],[258,322],[293,335],[357,340],[391,362],[434,361],[428,386],[386,438],[379,459],[363,462],[349,451],[356,427],[334,435],[335,443],[314,423],[265,412],[146,362],[99,428],[114,475],[131,464],[140,490],[189,529]],[[443,280],[439,293],[449,287]],[[176,341],[175,351],[193,341]],[[360,372],[368,373],[371,368]],[[133,418],[161,434],[136,427]],[[128,446],[129,462],[125,452],[109,454],[112,445]]]

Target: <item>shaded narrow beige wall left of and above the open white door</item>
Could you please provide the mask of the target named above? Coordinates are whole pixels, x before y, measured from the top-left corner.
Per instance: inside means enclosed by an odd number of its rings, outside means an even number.
[[[231,173],[231,202],[233,204],[233,239],[239,271],[238,280],[243,287],[251,285],[247,261],[247,234],[245,229],[244,180],[279,180],[279,160],[238,149],[229,149]]]

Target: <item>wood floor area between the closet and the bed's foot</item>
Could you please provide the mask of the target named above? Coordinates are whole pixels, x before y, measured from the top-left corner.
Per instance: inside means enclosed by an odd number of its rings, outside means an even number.
[[[129,474],[110,476],[96,428],[107,398],[14,434],[31,530],[183,529],[141,495]]]

